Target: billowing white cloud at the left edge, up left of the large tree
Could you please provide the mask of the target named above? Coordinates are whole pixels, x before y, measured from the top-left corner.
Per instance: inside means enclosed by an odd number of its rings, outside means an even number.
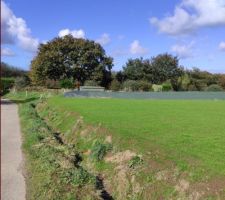
[[[16,17],[4,1],[1,1],[1,9],[2,44],[18,43],[24,50],[36,51],[39,41],[31,36],[26,21]]]

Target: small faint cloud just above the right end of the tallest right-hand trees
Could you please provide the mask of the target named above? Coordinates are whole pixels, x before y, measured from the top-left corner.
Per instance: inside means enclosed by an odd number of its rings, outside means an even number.
[[[181,59],[190,58],[193,56],[193,47],[194,42],[191,42],[188,45],[185,44],[176,44],[171,47],[171,51],[176,54]]]

